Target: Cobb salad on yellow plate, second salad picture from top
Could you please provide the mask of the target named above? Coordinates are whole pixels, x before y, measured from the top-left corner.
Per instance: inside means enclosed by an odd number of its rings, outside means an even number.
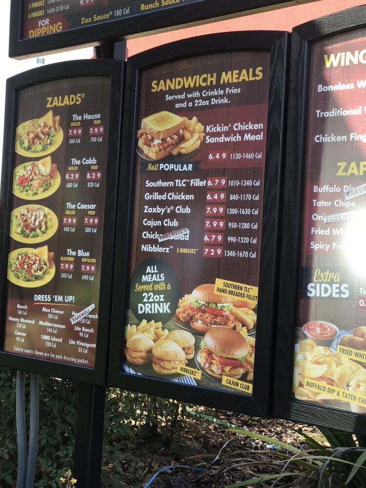
[[[57,164],[52,163],[51,156],[40,161],[20,164],[14,170],[14,194],[20,198],[39,199],[54,193],[60,186],[61,178]],[[39,197],[38,195],[42,195]]]

